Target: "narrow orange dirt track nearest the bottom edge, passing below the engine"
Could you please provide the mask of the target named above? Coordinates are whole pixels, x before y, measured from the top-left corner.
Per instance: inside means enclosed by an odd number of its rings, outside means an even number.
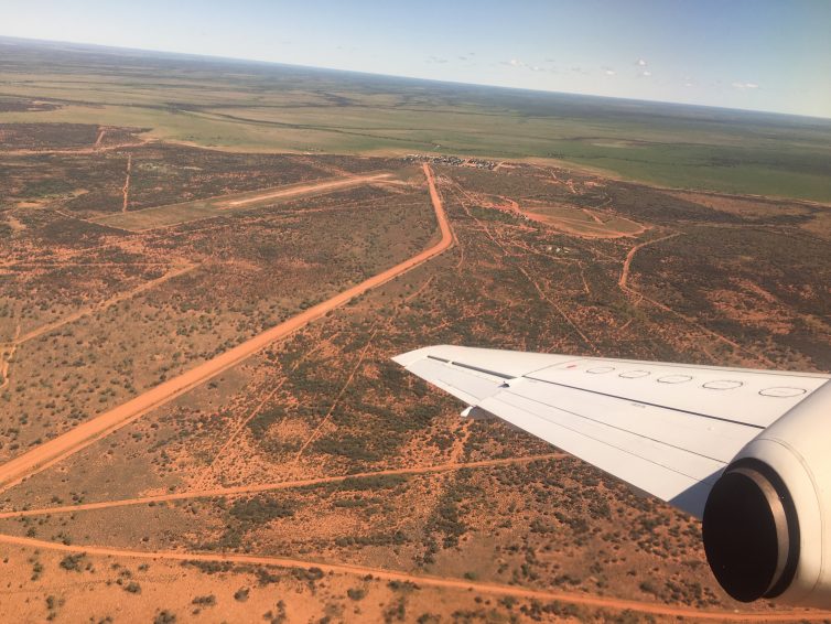
[[[133,559],[152,559],[162,561],[212,561],[220,563],[238,563],[240,566],[273,566],[277,568],[316,568],[323,572],[336,574],[356,574],[366,577],[371,574],[376,579],[386,581],[411,582],[419,587],[432,587],[462,591],[475,591],[492,595],[509,595],[531,600],[560,601],[569,604],[580,604],[597,609],[611,609],[615,611],[637,611],[652,615],[667,615],[670,617],[689,617],[691,620],[714,620],[717,622],[805,622],[809,620],[822,620],[831,617],[831,612],[820,611],[781,611],[777,613],[736,613],[732,611],[702,611],[693,607],[662,605],[635,600],[620,600],[605,596],[594,596],[578,592],[557,592],[546,590],[531,590],[498,583],[482,583],[464,579],[429,577],[409,574],[381,568],[369,568],[349,563],[323,563],[305,561],[302,559],[289,559],[282,557],[258,557],[253,555],[214,555],[176,551],[142,551],[121,548],[102,548],[98,546],[82,546],[57,544],[28,537],[2,535],[0,544],[10,544],[42,550],[57,550],[61,552],[86,553],[98,557],[128,557]]]

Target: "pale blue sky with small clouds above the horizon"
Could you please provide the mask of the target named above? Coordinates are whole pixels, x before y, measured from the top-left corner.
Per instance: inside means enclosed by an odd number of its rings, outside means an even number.
[[[831,0],[0,0],[0,34],[831,117]]]

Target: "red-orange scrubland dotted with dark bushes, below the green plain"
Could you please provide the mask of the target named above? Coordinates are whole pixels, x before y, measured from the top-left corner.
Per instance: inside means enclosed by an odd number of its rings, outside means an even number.
[[[66,131],[0,148],[3,613],[831,616],[731,601],[698,521],[460,419],[389,361],[456,343],[828,370],[831,208]],[[160,220],[119,227],[143,211]]]

